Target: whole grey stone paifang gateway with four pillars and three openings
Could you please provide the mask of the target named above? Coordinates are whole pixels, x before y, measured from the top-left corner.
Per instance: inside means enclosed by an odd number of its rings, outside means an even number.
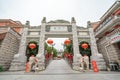
[[[44,17],[40,26],[30,26],[29,21],[22,30],[21,41],[19,45],[18,53],[14,55],[14,59],[11,62],[9,70],[24,70],[27,61],[26,47],[30,41],[36,41],[39,45],[37,58],[39,59],[39,69],[44,70],[45,67],[45,50],[44,42],[47,38],[69,38],[73,41],[73,63],[72,68],[74,70],[80,69],[79,43],[86,41],[91,47],[91,60],[97,61],[98,68],[100,70],[106,69],[106,64],[101,54],[98,53],[96,46],[96,40],[94,36],[93,28],[90,22],[87,24],[87,28],[79,27],[76,25],[74,18],[71,18],[71,22],[65,20],[55,20],[46,22]]]

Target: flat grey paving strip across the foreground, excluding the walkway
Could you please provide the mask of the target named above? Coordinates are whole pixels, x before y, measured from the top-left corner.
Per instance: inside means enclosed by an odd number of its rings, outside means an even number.
[[[0,80],[120,80],[120,74],[81,73],[81,74],[29,74],[0,75]]]

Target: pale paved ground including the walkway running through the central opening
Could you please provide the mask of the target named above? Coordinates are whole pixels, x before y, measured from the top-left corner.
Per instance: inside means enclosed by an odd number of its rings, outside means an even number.
[[[1,72],[0,80],[120,80],[120,72],[74,71],[64,60],[53,60],[45,71]]]

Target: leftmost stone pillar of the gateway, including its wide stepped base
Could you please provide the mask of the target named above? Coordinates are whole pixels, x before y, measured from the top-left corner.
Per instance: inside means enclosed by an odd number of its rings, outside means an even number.
[[[24,70],[25,64],[26,64],[26,35],[28,32],[28,28],[23,29],[23,33],[21,36],[21,42],[19,46],[18,54],[14,55],[14,59],[10,66],[10,71],[18,71],[18,70]]]

